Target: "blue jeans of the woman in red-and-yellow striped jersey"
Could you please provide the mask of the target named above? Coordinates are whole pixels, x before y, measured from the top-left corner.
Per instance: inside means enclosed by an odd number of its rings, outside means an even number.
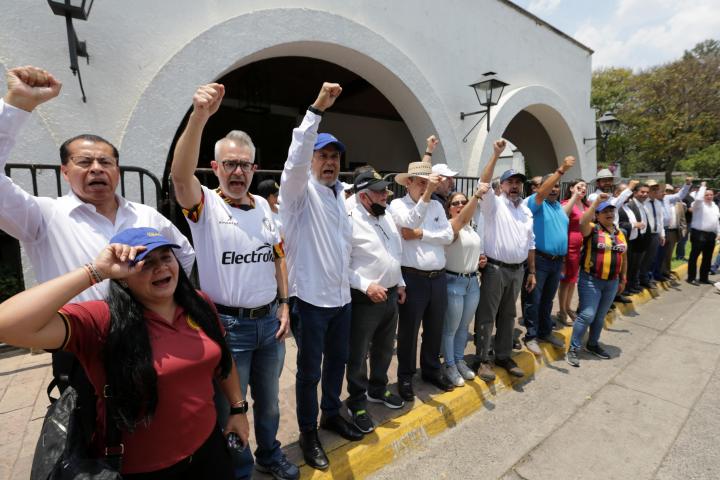
[[[570,348],[579,349],[582,346],[582,338],[588,327],[590,337],[588,345],[595,346],[600,340],[605,315],[610,310],[615,295],[617,294],[619,279],[601,280],[593,277],[584,270],[580,271],[578,278],[578,316],[573,325],[573,334],[570,339]]]

